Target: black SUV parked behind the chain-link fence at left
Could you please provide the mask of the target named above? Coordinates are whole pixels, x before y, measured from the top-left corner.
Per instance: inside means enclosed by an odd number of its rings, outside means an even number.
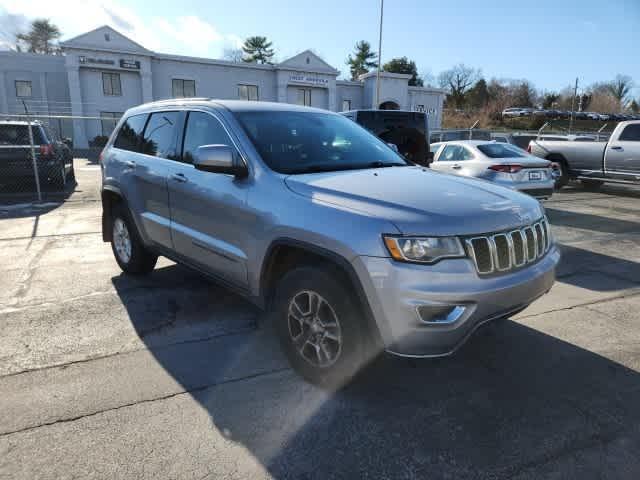
[[[32,122],[33,145],[41,184],[64,189],[75,180],[73,154],[40,122]],[[29,124],[24,121],[0,121],[0,184],[24,184],[34,181]]]

